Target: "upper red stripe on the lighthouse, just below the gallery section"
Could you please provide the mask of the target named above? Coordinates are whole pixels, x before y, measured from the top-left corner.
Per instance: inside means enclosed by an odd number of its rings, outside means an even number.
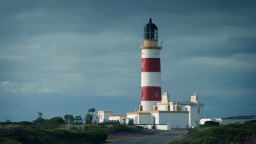
[[[160,58],[142,58],[141,72],[161,72]]]

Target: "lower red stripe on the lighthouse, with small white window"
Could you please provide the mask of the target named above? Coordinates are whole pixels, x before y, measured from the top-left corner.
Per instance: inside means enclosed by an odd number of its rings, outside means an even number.
[[[156,91],[157,97],[156,97]],[[141,87],[141,101],[161,101],[161,87],[143,86]]]

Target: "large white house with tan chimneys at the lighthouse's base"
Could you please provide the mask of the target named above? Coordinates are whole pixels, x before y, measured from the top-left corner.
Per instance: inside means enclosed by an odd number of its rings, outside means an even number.
[[[204,104],[198,102],[196,93],[193,93],[190,101],[184,102],[171,102],[169,97],[168,93],[164,92],[162,101],[155,103],[153,111],[128,112],[127,119],[134,124],[167,125],[170,123],[171,128],[186,129],[187,125],[191,126],[194,121],[198,123],[203,117]]]

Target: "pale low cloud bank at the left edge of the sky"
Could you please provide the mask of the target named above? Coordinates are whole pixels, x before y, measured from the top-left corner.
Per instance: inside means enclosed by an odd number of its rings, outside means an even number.
[[[5,92],[60,92],[48,87],[39,87],[36,83],[0,82],[0,90]]]

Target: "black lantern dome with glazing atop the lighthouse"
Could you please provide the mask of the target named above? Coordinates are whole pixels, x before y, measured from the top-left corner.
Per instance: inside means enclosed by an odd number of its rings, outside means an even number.
[[[152,23],[152,19],[149,19],[149,23],[144,27],[144,39],[156,39],[158,40],[158,27]]]

